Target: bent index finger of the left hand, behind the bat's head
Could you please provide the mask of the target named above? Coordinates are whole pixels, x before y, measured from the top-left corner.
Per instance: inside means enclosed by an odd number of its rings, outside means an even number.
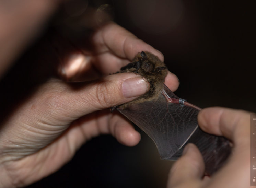
[[[150,51],[164,60],[163,54],[149,44],[138,39],[123,27],[110,23],[100,28],[92,38],[98,53],[112,51],[116,56],[131,61],[140,51]]]

